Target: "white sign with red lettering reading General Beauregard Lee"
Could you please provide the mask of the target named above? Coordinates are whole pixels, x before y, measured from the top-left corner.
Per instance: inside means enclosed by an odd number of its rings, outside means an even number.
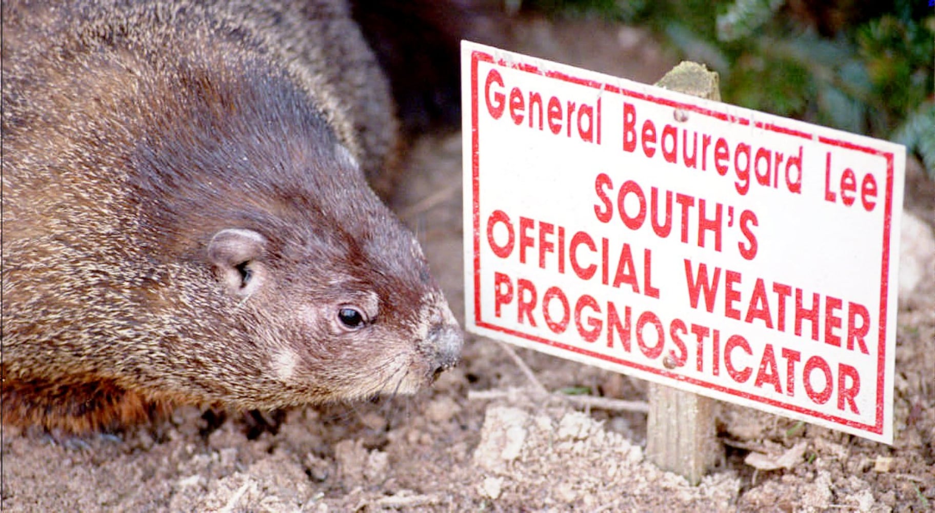
[[[462,44],[468,330],[892,443],[905,149]]]

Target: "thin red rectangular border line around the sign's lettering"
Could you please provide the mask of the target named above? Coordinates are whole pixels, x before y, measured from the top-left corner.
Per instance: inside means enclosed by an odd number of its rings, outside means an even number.
[[[879,333],[879,343],[877,345],[878,357],[877,357],[877,401],[876,401],[876,421],[873,425],[865,424],[861,422],[856,422],[854,420],[847,420],[841,417],[834,415],[828,415],[820,411],[815,411],[802,406],[790,405],[782,401],[777,401],[775,399],[770,399],[768,397],[762,397],[753,393],[743,392],[739,390],[733,390],[726,388],[721,385],[714,383],[709,383],[701,379],[688,378],[681,376],[679,374],[669,372],[664,369],[658,369],[654,367],[649,367],[646,365],[641,365],[640,363],[628,362],[619,358],[614,358],[605,354],[600,354],[594,351],[587,349],[577,348],[574,346],[569,346],[568,344],[563,344],[561,342],[556,342],[548,338],[543,338],[537,335],[528,335],[510,328],[504,328],[498,326],[491,322],[482,321],[481,319],[481,198],[480,198],[480,138],[479,138],[479,126],[478,126],[478,63],[490,63],[499,65],[501,67],[509,67],[512,69],[524,71],[526,73],[533,73],[539,76],[547,78],[555,78],[557,80],[562,80],[565,82],[570,82],[585,87],[592,87],[595,89],[602,89],[608,93],[617,93],[629,96],[631,98],[637,98],[647,102],[653,102],[657,105],[667,106],[667,107],[676,107],[683,110],[688,110],[691,112],[696,112],[702,116],[710,116],[712,118],[728,121],[733,123],[738,123],[741,125],[750,125],[753,124],[756,128],[767,130],[770,132],[776,132],[783,135],[791,135],[794,137],[801,137],[809,141],[817,139],[823,144],[829,146],[835,146],[838,148],[843,148],[846,150],[855,150],[861,151],[863,153],[868,153],[870,155],[882,156],[886,159],[886,198],[885,198],[885,209],[884,209],[884,230],[883,230],[883,264],[881,269],[881,283],[880,283],[880,333]],[[789,411],[795,411],[799,414],[808,415],[813,418],[829,420],[837,424],[846,425],[852,428],[856,428],[863,431],[868,431],[876,435],[883,435],[884,428],[884,404],[885,404],[885,356],[886,356],[886,295],[887,287],[889,284],[889,237],[890,237],[890,225],[892,223],[893,216],[893,166],[895,162],[895,156],[891,151],[882,151],[876,150],[873,148],[856,145],[848,141],[842,141],[840,139],[834,139],[831,137],[826,137],[819,135],[817,138],[813,134],[807,132],[802,132],[801,130],[786,128],[780,126],[773,122],[763,122],[763,121],[750,121],[749,119],[732,116],[726,114],[725,112],[720,112],[718,110],[706,107],[698,107],[692,104],[685,104],[682,102],[670,100],[669,98],[660,98],[652,94],[640,93],[636,91],[630,91],[612,84],[607,84],[599,82],[597,80],[592,80],[588,78],[578,78],[566,73],[557,72],[557,71],[542,71],[537,66],[532,64],[522,64],[522,63],[507,63],[503,60],[496,61],[494,57],[489,53],[485,53],[480,50],[473,50],[471,52],[471,63],[470,63],[470,74],[471,74],[471,183],[472,183],[472,216],[473,216],[473,227],[474,227],[474,254],[473,254],[473,270],[474,270],[474,322],[488,330],[493,330],[507,335],[518,336],[537,342],[540,344],[545,344],[552,346],[558,349],[565,349],[568,351],[576,352],[592,358],[597,358],[598,360],[603,360],[610,363],[616,363],[619,365],[624,365],[626,367],[631,367],[639,369],[643,372],[652,373],[658,376],[665,378],[675,379],[678,381],[683,381],[686,383],[691,383],[698,385],[699,387],[706,388],[712,391],[723,392],[729,395],[735,395],[742,397],[744,399],[749,399],[758,403],[767,404],[770,406],[776,406],[783,408]]]

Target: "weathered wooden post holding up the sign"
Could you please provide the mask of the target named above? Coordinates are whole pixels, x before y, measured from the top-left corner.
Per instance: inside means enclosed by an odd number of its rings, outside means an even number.
[[[721,100],[717,73],[702,64],[683,62],[656,85]],[[646,455],[650,461],[684,476],[693,485],[701,482],[722,450],[714,431],[715,406],[711,398],[650,383],[646,426]]]

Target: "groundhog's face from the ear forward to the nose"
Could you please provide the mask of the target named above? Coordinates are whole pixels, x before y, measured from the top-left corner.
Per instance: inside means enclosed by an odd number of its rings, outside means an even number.
[[[281,188],[273,212],[212,235],[218,286],[290,402],[414,392],[457,362],[457,321],[349,153],[314,161],[313,187]]]

